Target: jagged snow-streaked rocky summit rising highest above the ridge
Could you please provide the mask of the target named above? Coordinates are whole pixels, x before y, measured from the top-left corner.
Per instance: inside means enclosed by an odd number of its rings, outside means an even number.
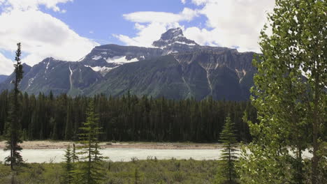
[[[198,46],[194,40],[187,39],[181,28],[168,29],[166,33],[161,34],[161,38],[154,41],[154,47],[165,48],[170,45],[188,45],[190,47]]]

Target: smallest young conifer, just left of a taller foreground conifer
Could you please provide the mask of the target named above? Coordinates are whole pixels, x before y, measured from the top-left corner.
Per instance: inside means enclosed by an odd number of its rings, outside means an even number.
[[[73,153],[71,151],[71,146],[68,145],[65,152],[64,178],[62,181],[64,184],[73,183],[74,165],[72,159],[73,159]]]

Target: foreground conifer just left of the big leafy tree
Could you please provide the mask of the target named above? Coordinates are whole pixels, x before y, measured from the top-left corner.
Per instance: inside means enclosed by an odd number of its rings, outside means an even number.
[[[235,161],[237,160],[237,139],[234,130],[234,123],[228,116],[225,120],[225,125],[220,133],[220,141],[223,144],[221,151],[218,173],[215,178],[215,183],[233,184],[237,183],[237,174],[235,171]]]

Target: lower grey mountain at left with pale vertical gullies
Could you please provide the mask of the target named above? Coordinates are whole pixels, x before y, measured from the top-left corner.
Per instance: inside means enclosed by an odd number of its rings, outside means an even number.
[[[48,94],[68,93],[68,95],[83,94],[83,90],[93,84],[102,76],[89,67],[79,62],[60,61],[47,58],[33,67],[23,64],[24,77],[20,82],[20,90],[27,93]],[[12,89],[10,82],[14,75],[10,75],[3,84],[0,84],[0,91]]]

